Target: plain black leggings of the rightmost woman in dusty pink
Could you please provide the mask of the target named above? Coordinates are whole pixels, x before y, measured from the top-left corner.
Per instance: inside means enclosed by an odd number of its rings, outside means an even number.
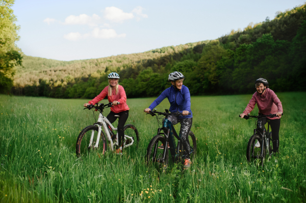
[[[268,119],[263,118],[263,129],[267,132],[265,124],[267,123]],[[271,132],[272,132],[272,145],[273,145],[273,152],[276,153],[278,152],[279,148],[279,127],[281,126],[281,119],[269,119],[270,127],[271,127]]]

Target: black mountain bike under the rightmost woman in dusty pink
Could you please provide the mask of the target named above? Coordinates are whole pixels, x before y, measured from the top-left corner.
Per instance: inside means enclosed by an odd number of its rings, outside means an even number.
[[[283,115],[283,113],[282,113]],[[261,166],[264,165],[264,160],[266,154],[271,155],[273,152],[272,143],[271,143],[271,133],[269,132],[270,123],[268,122],[268,130],[267,132],[263,130],[263,118],[273,118],[276,117],[276,114],[269,114],[269,115],[244,115],[244,119],[248,120],[251,118],[256,118],[256,129],[254,129],[254,134],[250,137],[247,143],[246,149],[246,159],[248,162],[257,162],[260,160]],[[239,115],[240,117],[240,115]]]

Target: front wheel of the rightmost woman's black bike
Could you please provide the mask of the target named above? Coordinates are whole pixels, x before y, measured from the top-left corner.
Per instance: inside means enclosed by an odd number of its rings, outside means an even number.
[[[259,141],[260,147],[255,147],[255,144]],[[246,149],[246,159],[250,163],[257,163],[260,160],[260,165],[264,165],[264,160],[266,156],[266,149],[265,146],[262,146],[262,137],[259,134],[254,134],[250,137],[247,143]],[[263,156],[261,156],[261,150],[263,148]]]

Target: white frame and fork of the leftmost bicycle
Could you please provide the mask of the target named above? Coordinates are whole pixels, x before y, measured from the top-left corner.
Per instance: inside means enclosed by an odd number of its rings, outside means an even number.
[[[113,140],[111,138],[111,134],[110,134],[110,132],[108,130],[107,124],[111,127],[111,130],[117,131],[116,142],[113,142]],[[99,140],[100,140],[101,131],[102,131],[102,127],[103,127],[104,132],[106,133],[106,138],[107,138],[107,140],[110,141],[111,150],[114,151],[115,144],[117,146],[119,146],[119,143],[118,143],[118,130],[117,130],[117,128],[115,128],[102,113],[99,113],[98,121],[94,125],[98,127],[98,135],[97,135],[97,140],[96,140],[94,148],[98,148],[98,146],[99,146]],[[89,141],[89,147],[91,146],[91,144],[93,142],[94,132],[95,132],[94,130],[92,130],[92,132],[91,132],[91,137],[90,137],[90,141]],[[124,135],[124,140],[126,140],[126,138],[130,138],[132,140],[132,142],[129,143],[129,144],[126,144],[123,148],[129,147],[129,146],[131,146],[134,143],[134,139],[132,137]]]

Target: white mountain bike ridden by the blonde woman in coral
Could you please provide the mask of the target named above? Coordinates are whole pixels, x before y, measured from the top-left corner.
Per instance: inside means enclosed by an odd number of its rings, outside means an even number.
[[[117,104],[120,103],[118,102]],[[117,128],[114,128],[109,120],[103,115],[104,108],[108,107],[113,107],[112,103],[106,105],[97,103],[96,105],[91,104],[86,107],[89,110],[95,109],[95,111],[99,111],[100,113],[97,123],[94,123],[92,126],[87,126],[81,131],[77,140],[77,146],[75,146],[78,157],[90,155],[90,153],[93,151],[104,154],[107,151],[107,146],[109,146],[111,151],[115,151],[115,145],[119,146],[118,132],[116,134],[113,133],[113,130],[117,131]],[[120,116],[115,115],[115,117]],[[102,128],[104,129],[104,132]],[[122,148],[133,146],[133,144],[136,146],[136,148],[138,148],[139,134],[136,127],[131,124],[127,124],[124,126],[123,130],[124,140]],[[134,143],[135,141],[136,143]]]

